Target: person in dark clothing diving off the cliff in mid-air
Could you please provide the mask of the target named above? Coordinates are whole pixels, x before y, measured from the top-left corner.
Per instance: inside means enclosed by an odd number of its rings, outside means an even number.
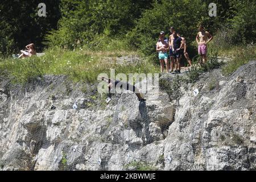
[[[114,86],[114,88],[123,88],[125,90],[130,90],[131,92],[136,94],[139,101],[146,101],[146,99],[144,99],[142,97],[142,94],[139,93],[139,90],[134,85],[131,85],[127,82],[123,82],[123,81],[119,81],[119,80],[111,80],[110,78],[105,78],[105,77],[100,77],[100,78],[102,81],[105,81],[108,83],[108,87],[109,87],[108,97],[110,99],[111,99],[110,90],[111,90],[112,86]]]

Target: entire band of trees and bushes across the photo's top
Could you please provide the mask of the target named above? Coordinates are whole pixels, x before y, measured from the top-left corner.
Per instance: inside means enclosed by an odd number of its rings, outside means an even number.
[[[217,4],[216,17],[208,15],[212,2]],[[10,55],[31,42],[37,49],[43,45],[70,49],[84,46],[110,51],[110,42],[122,40],[122,48],[139,48],[144,55],[154,55],[159,32],[168,33],[170,26],[194,47],[199,23],[218,35],[223,44],[245,44],[256,38],[256,3],[249,0],[48,0],[44,1],[47,17],[38,16],[39,3],[0,2],[2,54]]]

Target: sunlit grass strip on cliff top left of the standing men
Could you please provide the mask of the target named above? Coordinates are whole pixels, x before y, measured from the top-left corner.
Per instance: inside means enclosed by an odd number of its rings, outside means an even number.
[[[71,80],[96,82],[100,73],[110,76],[110,68],[118,73],[156,73],[158,67],[152,61],[121,65],[115,59],[120,56],[135,55],[134,51],[83,51],[81,48],[69,51],[52,48],[44,56],[26,59],[0,60],[0,74],[11,75],[15,82],[27,82],[43,75],[67,75]]]

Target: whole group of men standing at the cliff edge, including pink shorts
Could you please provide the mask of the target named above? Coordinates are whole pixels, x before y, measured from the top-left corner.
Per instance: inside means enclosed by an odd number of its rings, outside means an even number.
[[[213,39],[213,36],[205,31],[202,25],[199,26],[199,32],[196,36],[196,42],[198,44],[198,52],[200,55],[200,64],[204,64],[207,61],[207,44]],[[189,67],[192,66],[191,59],[187,52],[187,44],[185,38],[183,38],[174,27],[170,28],[170,36],[167,39],[164,31],[160,32],[158,42],[156,43],[156,51],[161,64],[161,72],[164,71],[164,63],[166,63],[166,72],[172,74],[180,73],[180,61],[184,56],[187,59]],[[169,52],[169,55],[168,55]],[[170,57],[170,62],[168,62]],[[174,70],[175,68],[175,70]]]

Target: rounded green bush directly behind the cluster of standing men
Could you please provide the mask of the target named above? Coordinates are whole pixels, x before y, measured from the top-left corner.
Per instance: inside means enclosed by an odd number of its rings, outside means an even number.
[[[188,43],[192,42],[195,40],[199,23],[208,16],[207,9],[208,6],[200,0],[155,2],[154,8],[142,14],[142,18],[130,33],[130,43],[141,49],[145,55],[154,55],[159,32],[164,31],[168,35],[171,26],[174,26]]]

